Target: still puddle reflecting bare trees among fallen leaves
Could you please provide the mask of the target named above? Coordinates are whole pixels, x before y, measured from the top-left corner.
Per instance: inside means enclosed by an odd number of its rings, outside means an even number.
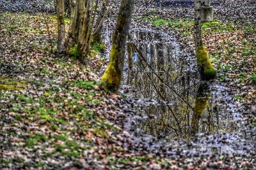
[[[136,115],[125,128],[170,139],[239,131],[241,118],[228,103],[231,97],[215,82],[200,82],[195,63],[163,32],[131,32],[120,90]]]

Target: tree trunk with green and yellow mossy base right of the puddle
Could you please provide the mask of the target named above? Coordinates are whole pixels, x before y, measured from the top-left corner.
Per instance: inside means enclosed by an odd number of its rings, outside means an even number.
[[[196,60],[198,71],[200,73],[200,78],[202,80],[211,80],[216,77],[216,71],[212,67],[212,64],[209,60],[207,52],[205,50],[203,41],[202,41],[202,27],[201,27],[201,0],[195,0],[195,51],[196,51]]]

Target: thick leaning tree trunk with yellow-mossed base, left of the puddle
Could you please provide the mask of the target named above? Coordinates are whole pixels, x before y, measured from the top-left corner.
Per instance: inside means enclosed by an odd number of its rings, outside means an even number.
[[[116,92],[122,79],[125,57],[125,45],[127,43],[127,34],[134,6],[134,0],[122,0],[115,33],[113,34],[113,43],[110,51],[110,61],[101,81],[102,87],[106,91]]]

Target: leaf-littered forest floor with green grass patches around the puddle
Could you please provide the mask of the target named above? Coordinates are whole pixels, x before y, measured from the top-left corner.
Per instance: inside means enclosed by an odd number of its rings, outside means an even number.
[[[256,168],[255,2],[213,1],[216,20],[203,24],[216,81],[239,106],[243,131],[198,134],[192,141],[134,137],[124,129],[125,119],[136,115],[133,102],[99,89],[104,59],[81,64],[57,57],[56,17],[26,12],[49,11],[49,6],[31,4],[25,12],[13,13],[28,5],[4,2],[0,0],[0,169]],[[110,9],[107,22],[113,25],[115,0]],[[136,1],[132,27],[136,23],[175,34],[184,53],[193,55],[193,1]],[[220,144],[239,152],[218,150]]]

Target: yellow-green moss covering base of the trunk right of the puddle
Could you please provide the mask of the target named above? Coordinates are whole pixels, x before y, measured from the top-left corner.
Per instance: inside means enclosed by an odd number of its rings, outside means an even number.
[[[216,71],[212,67],[204,45],[196,50],[196,61],[202,80],[211,80],[216,77]]]

